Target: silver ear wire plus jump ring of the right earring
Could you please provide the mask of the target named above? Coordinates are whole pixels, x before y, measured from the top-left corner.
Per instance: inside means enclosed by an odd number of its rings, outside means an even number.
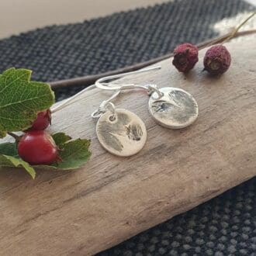
[[[111,82],[111,80],[115,80],[117,78],[123,78],[124,76],[129,74],[141,74],[144,72],[157,71],[159,69],[161,69],[161,66],[147,67],[139,71],[109,75],[108,77],[99,78],[99,80],[95,81],[95,86],[99,89],[108,90],[108,91],[115,91],[115,90],[123,91],[123,90],[129,90],[134,88],[142,88],[147,90],[149,94],[151,94],[152,92],[157,92],[158,98],[160,99],[163,96],[163,94],[158,90],[157,85],[135,85],[135,84],[116,85]]]

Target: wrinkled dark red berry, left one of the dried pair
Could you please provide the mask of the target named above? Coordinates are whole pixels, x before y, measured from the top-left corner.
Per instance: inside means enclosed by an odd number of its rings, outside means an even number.
[[[180,72],[188,72],[199,61],[199,50],[191,43],[183,43],[175,48],[172,64]]]

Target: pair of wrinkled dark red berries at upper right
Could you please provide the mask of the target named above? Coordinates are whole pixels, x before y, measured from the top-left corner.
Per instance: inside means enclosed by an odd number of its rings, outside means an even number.
[[[199,61],[198,55],[198,47],[191,43],[183,43],[175,48],[172,64],[175,65],[178,71],[186,73]],[[230,62],[230,53],[227,48],[221,44],[210,47],[206,51],[203,60],[205,70],[213,75],[226,72],[230,67]]]

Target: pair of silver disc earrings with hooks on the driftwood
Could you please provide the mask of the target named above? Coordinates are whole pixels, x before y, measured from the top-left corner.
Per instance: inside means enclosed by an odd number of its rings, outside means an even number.
[[[113,99],[124,90],[144,89],[150,95],[148,109],[150,115],[161,126],[170,129],[185,128],[195,122],[199,114],[199,107],[189,92],[180,88],[164,87],[157,85],[116,85],[111,81],[122,78],[128,74],[139,74],[155,71],[161,67],[150,67],[140,71],[116,74],[100,78],[95,86],[101,90],[116,91],[110,99],[102,102],[92,118],[99,119],[96,133],[100,144],[111,154],[129,157],[137,154],[146,143],[147,130],[139,116],[126,109],[116,109]]]

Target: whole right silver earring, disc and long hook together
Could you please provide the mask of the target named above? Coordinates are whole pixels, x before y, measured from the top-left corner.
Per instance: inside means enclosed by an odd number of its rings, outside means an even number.
[[[127,74],[140,74],[159,69],[161,67],[149,67],[140,71],[111,75],[100,78],[95,82],[95,86],[102,90],[111,91],[142,88],[150,95],[148,102],[149,112],[158,124],[171,129],[180,129],[191,125],[199,115],[199,107],[189,92],[174,87],[157,88],[157,85],[134,84],[116,85],[112,82],[107,82],[116,78],[122,78]]]

